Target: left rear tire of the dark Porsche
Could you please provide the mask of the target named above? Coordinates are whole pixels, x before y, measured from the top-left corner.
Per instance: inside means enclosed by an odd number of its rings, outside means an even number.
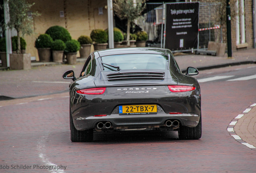
[[[71,109],[70,109],[70,140],[72,142],[92,142],[93,141],[93,129],[84,131],[78,131],[74,127]]]

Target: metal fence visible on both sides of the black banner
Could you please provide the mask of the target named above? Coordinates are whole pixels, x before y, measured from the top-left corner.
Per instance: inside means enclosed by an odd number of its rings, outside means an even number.
[[[133,29],[133,32],[136,32],[138,28],[147,32],[149,38],[146,46],[164,47],[165,4],[166,3],[147,3],[146,9],[142,15],[134,22],[136,29]],[[203,30],[198,31],[198,49],[206,49],[209,41],[219,42],[222,40],[221,28],[218,28],[220,24],[216,17],[216,12],[219,8],[219,3],[199,4],[199,28],[203,28]]]

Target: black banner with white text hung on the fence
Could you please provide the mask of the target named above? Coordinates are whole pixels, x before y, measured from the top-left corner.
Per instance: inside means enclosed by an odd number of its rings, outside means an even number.
[[[166,4],[165,48],[197,48],[199,2]]]

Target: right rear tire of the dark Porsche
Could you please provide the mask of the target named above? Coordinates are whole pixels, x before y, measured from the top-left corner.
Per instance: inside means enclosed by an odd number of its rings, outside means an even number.
[[[178,130],[179,139],[200,139],[202,137],[202,116],[196,127],[180,126]]]

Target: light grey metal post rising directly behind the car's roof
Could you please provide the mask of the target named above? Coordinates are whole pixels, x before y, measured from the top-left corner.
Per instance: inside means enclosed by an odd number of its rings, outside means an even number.
[[[114,48],[113,0],[107,0],[108,47]]]

